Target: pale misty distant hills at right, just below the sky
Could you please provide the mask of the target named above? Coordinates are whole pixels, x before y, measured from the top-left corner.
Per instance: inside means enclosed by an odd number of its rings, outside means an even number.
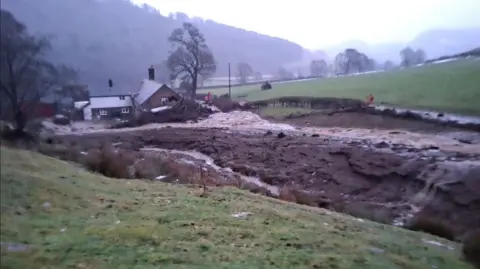
[[[399,52],[406,46],[414,49],[422,48],[427,58],[434,59],[444,55],[454,55],[480,46],[480,28],[465,29],[432,29],[416,36],[412,41],[404,43],[368,44],[352,40],[325,48],[329,57],[335,57],[346,48],[356,48],[373,59],[384,62],[400,61]]]

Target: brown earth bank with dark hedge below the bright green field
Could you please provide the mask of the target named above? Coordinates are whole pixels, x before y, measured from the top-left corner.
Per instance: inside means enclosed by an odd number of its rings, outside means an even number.
[[[479,117],[399,108],[381,102],[378,105],[365,106],[364,101],[356,99],[281,97],[252,102],[251,106],[260,114],[272,108],[314,110],[311,113],[294,113],[286,119],[325,127],[395,128],[422,132],[438,131],[442,128],[480,131]]]

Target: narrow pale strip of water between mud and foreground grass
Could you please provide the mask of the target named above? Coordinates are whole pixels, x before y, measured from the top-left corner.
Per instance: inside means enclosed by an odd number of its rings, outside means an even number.
[[[237,175],[241,180],[247,183],[251,183],[254,185],[257,185],[258,187],[262,187],[267,189],[269,192],[271,192],[273,195],[278,196],[280,193],[280,190],[277,186],[269,185],[265,182],[262,182],[259,178],[257,177],[249,177],[249,176],[244,176],[240,173],[233,172],[231,168],[222,168],[218,165],[216,165],[213,161],[212,158],[209,156],[202,154],[197,151],[183,151],[183,150],[175,150],[175,149],[162,149],[162,148],[152,148],[152,147],[145,147],[141,148],[141,151],[157,151],[157,152],[165,152],[165,153],[171,153],[171,154],[180,154],[180,155],[187,155],[190,156],[194,159],[205,161],[205,164],[210,166],[211,168],[215,169],[219,173],[229,173],[229,174],[235,174]],[[190,160],[185,160],[182,159],[183,162],[187,162],[189,164],[195,164],[195,162],[192,162]]]

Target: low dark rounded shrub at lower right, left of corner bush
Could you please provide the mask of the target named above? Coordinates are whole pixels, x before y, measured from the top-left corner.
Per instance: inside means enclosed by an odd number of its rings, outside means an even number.
[[[448,240],[455,240],[455,232],[450,226],[438,219],[428,216],[419,215],[414,217],[406,228],[412,231],[429,233]]]

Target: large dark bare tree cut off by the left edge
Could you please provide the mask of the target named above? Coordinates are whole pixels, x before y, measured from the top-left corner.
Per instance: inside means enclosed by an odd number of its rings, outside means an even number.
[[[29,35],[24,24],[1,10],[0,93],[3,111],[22,133],[40,99],[58,85],[58,71],[45,59],[51,49],[46,38]]]

